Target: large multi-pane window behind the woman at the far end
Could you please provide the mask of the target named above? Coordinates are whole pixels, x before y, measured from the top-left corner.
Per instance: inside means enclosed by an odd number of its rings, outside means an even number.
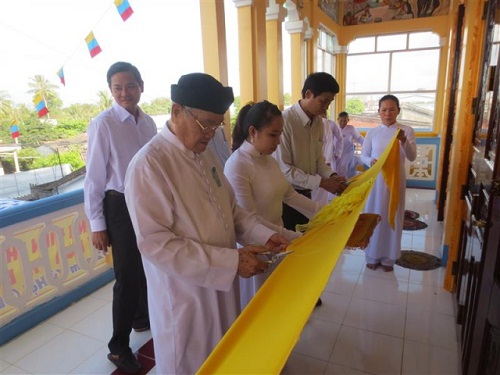
[[[401,103],[398,120],[416,131],[431,131],[441,53],[439,41],[435,34],[418,32],[351,42],[346,67],[346,111],[350,123],[365,129],[379,124],[378,101],[393,94]],[[376,48],[370,50],[371,47]]]

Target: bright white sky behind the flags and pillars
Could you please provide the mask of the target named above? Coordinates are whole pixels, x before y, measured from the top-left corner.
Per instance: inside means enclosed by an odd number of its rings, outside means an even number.
[[[226,3],[228,50],[237,50],[236,8]],[[97,103],[109,91],[106,72],[116,61],[140,70],[141,102],[170,97],[170,85],[202,72],[199,0],[129,0],[124,22],[113,0],[0,0],[0,92],[32,105],[28,83],[43,75],[58,86],[63,105]],[[90,57],[85,37],[93,31],[102,52]],[[239,91],[238,54],[228,54],[229,85]],[[66,86],[57,76],[63,67]]]

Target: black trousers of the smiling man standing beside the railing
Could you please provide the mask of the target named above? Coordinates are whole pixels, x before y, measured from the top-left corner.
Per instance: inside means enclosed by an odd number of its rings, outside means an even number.
[[[132,328],[149,326],[146,276],[123,194],[106,192],[104,216],[116,279],[113,286],[113,336],[108,348],[112,354],[120,355],[130,350]]]

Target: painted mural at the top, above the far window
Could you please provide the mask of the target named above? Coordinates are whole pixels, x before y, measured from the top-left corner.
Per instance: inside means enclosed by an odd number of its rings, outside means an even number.
[[[340,1],[344,5],[344,26],[442,16],[450,9],[450,0],[319,0],[318,6],[340,23]]]

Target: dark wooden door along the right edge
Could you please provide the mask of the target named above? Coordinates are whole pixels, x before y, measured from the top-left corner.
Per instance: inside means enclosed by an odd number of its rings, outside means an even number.
[[[500,0],[487,7],[457,294],[462,370],[468,375],[500,374]]]

